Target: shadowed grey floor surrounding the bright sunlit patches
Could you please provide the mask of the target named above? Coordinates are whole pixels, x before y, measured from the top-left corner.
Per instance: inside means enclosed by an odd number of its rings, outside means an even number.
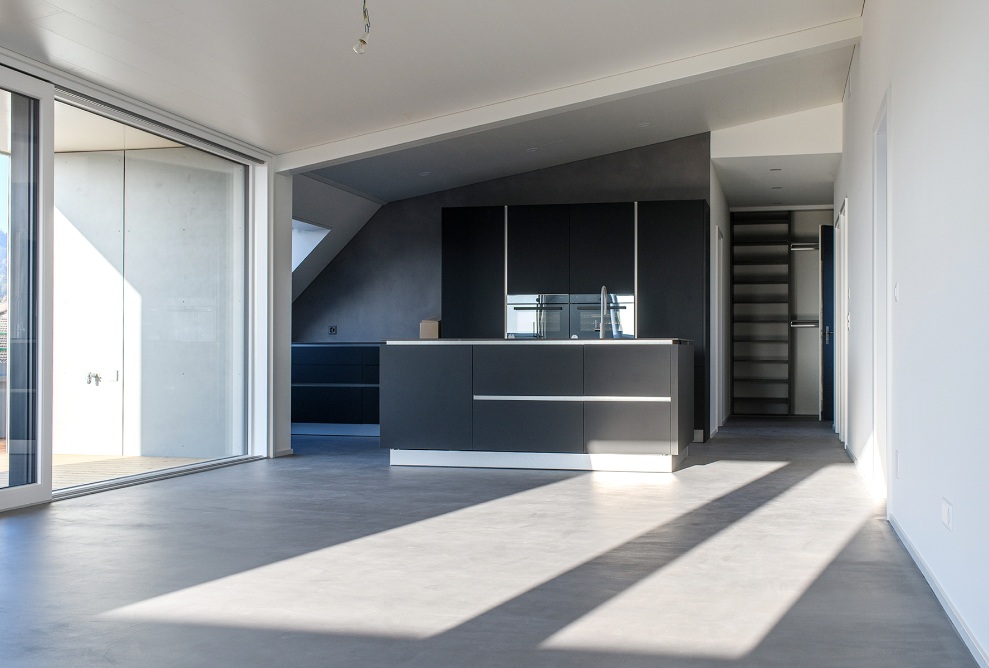
[[[721,475],[726,464],[727,470],[734,464],[775,466],[430,637],[383,637],[359,629],[299,632],[285,623],[277,608],[260,610],[247,628],[101,617],[131,602],[588,475],[391,469],[387,453],[369,438],[299,437],[293,448],[296,457],[62,502],[54,513],[21,512],[2,520],[0,531],[8,530],[3,537],[12,537],[8,519],[13,519],[19,525],[13,537],[20,539],[0,541],[0,561],[6,567],[6,575],[0,573],[0,588],[14,591],[8,585],[13,587],[11,578],[17,578],[19,592],[0,602],[0,615],[11,620],[0,632],[4,665],[976,665],[883,519],[881,506],[856,525],[851,539],[805,584],[761,641],[738,656],[711,656],[689,648],[632,651],[620,641],[607,649],[567,649],[548,642],[664,569],[685,563],[689,567],[685,559],[767,509],[790,524],[757,523],[750,536],[757,545],[773,538],[772,533],[760,538],[760,531],[794,526],[794,521],[827,524],[831,518],[826,514],[794,517],[816,505],[795,505],[789,511],[785,504],[822,472],[847,467],[849,475],[856,474],[829,430],[788,421],[732,421],[709,443],[691,446],[689,467],[675,478],[677,485],[695,485]],[[813,501],[836,509],[853,502],[840,496]],[[93,532],[100,532],[96,543]],[[510,535],[509,531],[506,536]],[[15,543],[16,552],[9,549]],[[53,543],[60,546],[58,551],[49,549]],[[512,546],[505,547],[510,557]],[[455,554],[458,543],[439,549]],[[732,557],[731,551],[721,554]],[[792,554],[796,561],[802,557],[799,550]],[[32,573],[44,573],[44,580],[34,582]],[[408,586],[414,588],[415,582]],[[774,586],[792,584],[780,580]],[[749,597],[744,586],[740,589],[741,597],[737,591],[725,594],[734,597],[725,599],[729,613],[739,620],[759,614],[761,592],[752,591]],[[722,602],[717,596],[702,601],[708,607]],[[698,609],[694,603],[685,598],[671,605],[692,615],[696,613],[687,611]],[[222,608],[224,603],[207,599],[199,605]],[[291,601],[283,605],[291,606]],[[333,600],[325,600],[325,606],[333,605]],[[424,609],[416,614],[435,613]],[[639,623],[648,628],[649,620]],[[698,617],[696,623],[704,622]],[[610,631],[621,637],[622,629]],[[718,633],[730,629],[712,630],[712,635]]]

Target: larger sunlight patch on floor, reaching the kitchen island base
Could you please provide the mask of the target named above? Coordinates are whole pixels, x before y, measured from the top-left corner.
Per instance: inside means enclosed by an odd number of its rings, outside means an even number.
[[[103,617],[427,638],[783,465],[715,462],[676,474],[580,475]]]

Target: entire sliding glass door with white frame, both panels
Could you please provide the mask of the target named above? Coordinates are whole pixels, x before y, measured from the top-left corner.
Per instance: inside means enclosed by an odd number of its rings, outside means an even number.
[[[0,66],[0,511],[248,454],[251,170],[131,120]]]

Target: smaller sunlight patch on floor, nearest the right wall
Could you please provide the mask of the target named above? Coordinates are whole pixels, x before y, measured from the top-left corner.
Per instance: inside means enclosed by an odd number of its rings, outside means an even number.
[[[874,513],[851,466],[824,468],[542,647],[742,658]]]

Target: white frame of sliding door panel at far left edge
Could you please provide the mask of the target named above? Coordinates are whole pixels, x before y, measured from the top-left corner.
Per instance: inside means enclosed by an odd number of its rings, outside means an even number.
[[[33,294],[36,321],[34,420],[36,436],[35,482],[0,489],[0,512],[50,501],[52,497],[52,196],[54,165],[55,86],[0,65],[0,88],[37,101],[35,136],[34,221],[35,275]],[[9,416],[8,416],[9,419]]]

